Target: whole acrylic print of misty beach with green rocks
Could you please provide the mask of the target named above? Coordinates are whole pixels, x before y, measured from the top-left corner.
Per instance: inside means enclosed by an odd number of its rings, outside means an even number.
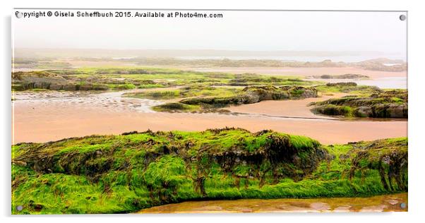
[[[407,11],[15,8],[13,215],[405,212]]]

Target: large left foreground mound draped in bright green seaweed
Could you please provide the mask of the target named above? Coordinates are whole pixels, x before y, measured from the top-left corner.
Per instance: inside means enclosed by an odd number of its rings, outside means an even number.
[[[13,145],[13,196],[27,212],[87,213],[96,199],[112,205],[100,212],[130,212],[180,200],[226,197],[220,191],[239,190],[241,185],[261,189],[280,179],[300,181],[327,156],[310,138],[238,128],[21,143]],[[47,194],[38,193],[40,188]],[[241,198],[238,194],[233,198]],[[56,195],[63,199],[55,200]],[[114,199],[125,201],[110,204]],[[40,210],[30,203],[40,204]],[[78,203],[87,206],[79,210]]]

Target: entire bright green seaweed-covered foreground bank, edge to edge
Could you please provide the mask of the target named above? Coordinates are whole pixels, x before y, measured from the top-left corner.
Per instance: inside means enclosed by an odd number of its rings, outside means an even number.
[[[123,213],[185,200],[401,191],[407,191],[407,138],[325,146],[304,136],[223,128],[12,146],[13,214]]]

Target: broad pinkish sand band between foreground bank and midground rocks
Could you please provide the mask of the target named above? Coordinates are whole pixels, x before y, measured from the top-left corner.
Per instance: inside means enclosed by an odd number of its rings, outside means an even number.
[[[122,93],[122,92],[121,92]],[[66,92],[61,93],[66,94]],[[128,131],[204,131],[208,128],[240,127],[249,131],[273,129],[282,133],[306,135],[323,144],[348,143],[407,136],[407,120],[402,121],[340,121],[330,119],[293,119],[255,114],[261,109],[267,114],[285,114],[291,111],[279,106],[257,107],[246,115],[162,113],[149,109],[157,101],[126,99],[120,92],[96,95],[15,95],[13,104],[13,144],[21,142],[47,142],[84,135],[109,135]],[[32,97],[28,99],[28,97]],[[25,99],[26,98],[26,99]],[[301,101],[292,101],[295,104]],[[272,102],[264,102],[272,103]],[[290,103],[280,101],[273,103]],[[272,104],[273,104],[272,103]],[[306,102],[302,102],[306,103]],[[298,104],[299,107],[301,104]],[[246,109],[241,107],[241,109]],[[308,110],[309,108],[307,108]],[[302,109],[294,114],[308,115]],[[311,115],[311,114],[310,114]]]

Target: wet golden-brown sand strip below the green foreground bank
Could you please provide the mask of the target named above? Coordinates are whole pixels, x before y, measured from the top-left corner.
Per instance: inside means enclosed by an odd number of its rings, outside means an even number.
[[[188,201],[140,210],[139,214],[246,212],[407,212],[407,193],[370,198],[243,199]],[[405,208],[402,208],[402,203]]]

